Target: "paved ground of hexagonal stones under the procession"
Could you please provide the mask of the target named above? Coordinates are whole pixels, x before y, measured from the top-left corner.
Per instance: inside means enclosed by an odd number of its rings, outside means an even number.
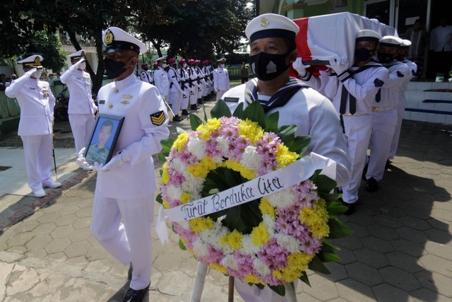
[[[188,129],[189,122],[177,126]],[[330,275],[309,272],[311,287],[299,284],[298,301],[452,300],[452,138],[441,131],[451,129],[403,123],[398,156],[380,190],[362,190],[357,212],[341,217],[355,231],[335,240],[342,262],[327,265]],[[5,150],[11,147],[0,148],[1,159]],[[76,169],[74,156],[57,164],[66,169],[64,187],[44,199],[0,195],[0,301],[121,301],[128,267],[90,236],[96,174]],[[155,232],[153,238],[145,301],[190,301],[196,261],[174,234],[165,246]],[[210,271],[201,301],[227,301],[227,277]]]

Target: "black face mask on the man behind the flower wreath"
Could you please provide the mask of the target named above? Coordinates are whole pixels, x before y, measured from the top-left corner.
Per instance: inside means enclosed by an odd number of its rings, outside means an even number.
[[[289,69],[290,64],[285,64],[285,58],[288,54],[290,52],[285,54],[269,54],[267,52],[254,54],[254,56],[249,57],[251,71],[261,81],[273,80]]]

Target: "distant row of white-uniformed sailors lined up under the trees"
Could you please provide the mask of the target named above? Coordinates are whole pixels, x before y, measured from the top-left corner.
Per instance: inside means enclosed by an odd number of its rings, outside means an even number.
[[[170,105],[173,113],[173,121],[180,122],[182,115],[189,115],[190,110],[198,110],[198,104],[202,105],[204,100],[216,93],[216,99],[230,88],[229,74],[225,69],[226,59],[218,59],[218,68],[213,69],[211,60],[204,60],[200,67],[200,60],[186,59],[177,60],[165,57],[158,58],[155,69],[148,71],[148,64],[142,64],[140,79],[157,87],[165,102]]]

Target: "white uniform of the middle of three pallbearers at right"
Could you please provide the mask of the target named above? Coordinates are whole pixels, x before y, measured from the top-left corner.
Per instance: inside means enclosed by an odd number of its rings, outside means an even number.
[[[402,62],[383,64],[388,71],[388,81],[381,88],[381,100],[373,102],[371,118],[372,133],[370,137],[369,163],[366,179],[374,178],[377,182],[383,178],[389,149],[397,124],[398,91],[405,79],[410,76],[410,69]]]

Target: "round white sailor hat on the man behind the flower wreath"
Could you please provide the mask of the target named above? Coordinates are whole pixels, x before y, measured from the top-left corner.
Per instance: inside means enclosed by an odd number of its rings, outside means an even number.
[[[294,21],[276,13],[264,13],[249,21],[245,35],[249,42],[263,37],[286,37],[295,40],[299,27]]]

